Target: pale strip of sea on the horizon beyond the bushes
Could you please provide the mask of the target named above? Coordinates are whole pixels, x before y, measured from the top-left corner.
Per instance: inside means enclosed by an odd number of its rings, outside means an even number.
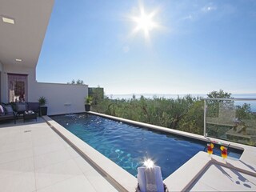
[[[108,98],[111,99],[130,99],[135,96],[135,98],[183,98],[188,94],[106,94]],[[190,94],[190,96],[195,98],[207,98],[207,94]],[[250,109],[252,112],[256,113],[256,93],[255,94],[231,94],[231,98],[251,98],[255,99],[254,101],[236,101],[235,105],[242,106],[243,103],[250,104]]]

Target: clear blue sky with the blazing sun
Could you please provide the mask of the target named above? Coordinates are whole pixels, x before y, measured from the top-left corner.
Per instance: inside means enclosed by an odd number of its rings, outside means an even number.
[[[105,94],[247,94],[255,71],[254,0],[55,0],[37,80],[81,79]]]

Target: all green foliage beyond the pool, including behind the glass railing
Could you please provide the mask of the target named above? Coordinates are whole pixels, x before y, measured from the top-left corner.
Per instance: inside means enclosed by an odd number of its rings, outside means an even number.
[[[208,98],[231,98],[230,93],[223,90],[212,91]],[[97,103],[97,104],[96,104]],[[207,118],[233,123],[234,117],[250,119],[250,124],[256,120],[255,114],[250,111],[250,104],[235,106],[230,100],[207,100]],[[156,126],[164,126],[174,130],[182,130],[193,134],[203,134],[204,126],[204,101],[202,98],[194,98],[186,95],[181,98],[136,98],[130,99],[98,99],[94,103],[93,111],[127,118],[138,122],[146,122]],[[233,116],[234,115],[234,116]],[[246,126],[253,126],[246,122]],[[248,125],[247,125],[248,124]],[[226,123],[220,125],[207,124],[207,134],[211,137],[226,138],[226,132],[232,126]],[[253,141],[250,141],[254,143]],[[247,143],[248,144],[248,143]],[[249,143],[250,144],[250,143]]]

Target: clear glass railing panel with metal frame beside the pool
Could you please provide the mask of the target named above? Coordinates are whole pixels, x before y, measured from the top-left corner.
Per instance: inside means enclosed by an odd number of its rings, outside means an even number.
[[[256,146],[256,99],[206,99],[206,136]]]

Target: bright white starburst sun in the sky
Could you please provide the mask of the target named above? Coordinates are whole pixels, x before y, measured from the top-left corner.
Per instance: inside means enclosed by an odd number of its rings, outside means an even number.
[[[133,33],[138,33],[138,31],[143,31],[145,38],[150,37],[150,30],[153,30],[158,27],[158,24],[154,22],[154,15],[156,11],[150,12],[150,14],[146,14],[144,7],[140,7],[140,15],[137,17],[132,17],[132,20],[137,24],[134,28]]]

